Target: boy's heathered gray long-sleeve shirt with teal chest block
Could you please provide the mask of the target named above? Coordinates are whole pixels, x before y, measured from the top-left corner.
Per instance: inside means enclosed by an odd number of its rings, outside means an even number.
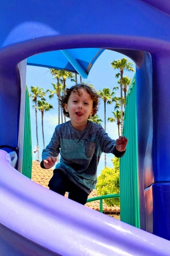
[[[97,166],[102,152],[112,153],[117,157],[125,154],[115,148],[101,125],[88,121],[82,131],[76,130],[71,121],[57,125],[48,146],[43,150],[42,159],[59,155],[57,169],[63,171],[80,188],[90,193],[97,183]],[[41,163],[41,166],[43,164]]]

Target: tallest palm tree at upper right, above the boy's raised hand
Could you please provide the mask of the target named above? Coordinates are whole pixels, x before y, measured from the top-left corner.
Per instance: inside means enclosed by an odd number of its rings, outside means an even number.
[[[115,77],[119,78],[121,77],[121,134],[123,131],[123,95],[122,95],[122,85],[123,85],[123,72],[124,71],[132,71],[135,72],[134,69],[132,68],[132,63],[128,62],[126,58],[123,58],[121,60],[114,60],[111,62],[111,67],[114,69],[118,69],[120,73],[117,73]]]

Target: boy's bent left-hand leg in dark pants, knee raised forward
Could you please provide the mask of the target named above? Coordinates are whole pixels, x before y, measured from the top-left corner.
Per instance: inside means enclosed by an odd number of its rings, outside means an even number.
[[[48,187],[52,191],[64,196],[65,192],[68,191],[68,182],[69,179],[67,175],[65,175],[61,170],[55,169],[53,170],[51,180],[49,180]]]

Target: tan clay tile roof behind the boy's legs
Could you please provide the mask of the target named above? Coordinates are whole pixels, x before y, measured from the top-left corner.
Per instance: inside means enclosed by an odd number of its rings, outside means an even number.
[[[31,179],[35,181],[36,183],[42,185],[45,188],[48,188],[49,180],[51,179],[53,175],[53,170],[50,169],[42,169],[40,167],[40,163],[38,161],[33,160],[32,161],[32,177]],[[68,193],[65,193],[65,196],[67,197]],[[94,189],[88,198],[97,197],[97,191]],[[99,211],[99,200],[98,201],[92,201],[85,204],[86,207],[89,207],[94,210]],[[113,213],[120,213],[120,208],[114,205],[114,207],[107,207],[105,204],[105,201],[103,201],[103,213],[106,214],[113,214]]]

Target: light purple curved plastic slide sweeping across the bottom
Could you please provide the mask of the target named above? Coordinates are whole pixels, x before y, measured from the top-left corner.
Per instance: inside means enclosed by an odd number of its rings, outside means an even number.
[[[169,241],[34,183],[6,151],[0,162],[1,255],[170,255]]]

